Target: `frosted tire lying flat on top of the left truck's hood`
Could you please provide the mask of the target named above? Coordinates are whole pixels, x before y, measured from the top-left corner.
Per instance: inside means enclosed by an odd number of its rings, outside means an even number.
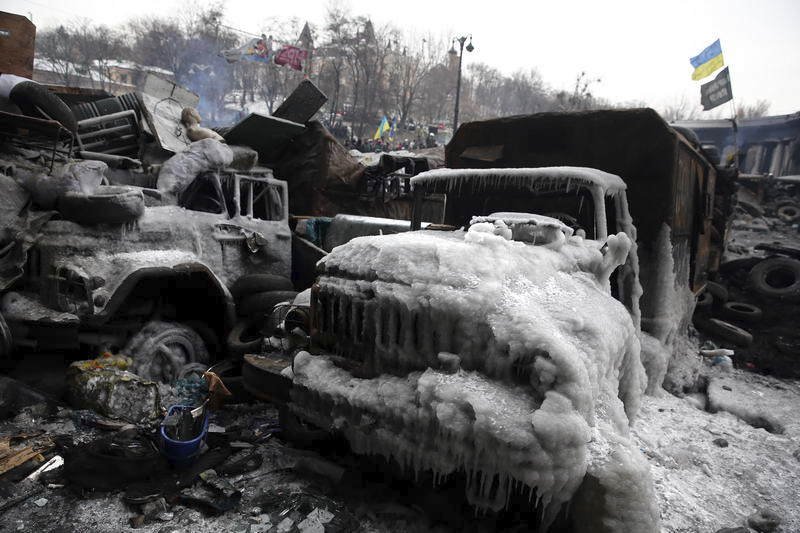
[[[78,224],[124,224],[144,214],[144,195],[134,187],[101,185],[94,194],[65,193],[57,208]]]

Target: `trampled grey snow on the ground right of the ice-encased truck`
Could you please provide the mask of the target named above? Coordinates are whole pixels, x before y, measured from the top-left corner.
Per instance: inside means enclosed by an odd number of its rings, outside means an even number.
[[[645,397],[632,434],[650,462],[662,531],[745,526],[758,508],[782,517],[779,531],[800,531],[800,382],[734,371],[713,377],[717,386],[731,389],[735,405],[779,420],[784,433],[706,412],[691,398]]]

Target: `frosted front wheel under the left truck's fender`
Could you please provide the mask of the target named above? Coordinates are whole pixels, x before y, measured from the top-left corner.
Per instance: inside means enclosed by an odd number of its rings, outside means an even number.
[[[131,370],[152,381],[172,383],[184,366],[209,364],[203,339],[192,328],[176,322],[148,322],[122,353],[133,359]]]

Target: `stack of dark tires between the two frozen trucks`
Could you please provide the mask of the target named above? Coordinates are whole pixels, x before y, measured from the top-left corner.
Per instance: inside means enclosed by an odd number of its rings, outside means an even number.
[[[297,292],[289,278],[275,274],[241,276],[231,287],[238,321],[228,335],[228,352],[242,356],[261,351],[264,335],[271,333],[269,317],[277,304],[292,301]]]

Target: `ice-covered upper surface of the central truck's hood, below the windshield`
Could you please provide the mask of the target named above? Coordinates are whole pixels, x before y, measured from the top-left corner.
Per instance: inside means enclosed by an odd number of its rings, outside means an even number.
[[[540,246],[491,233],[487,226],[476,224],[467,232],[423,230],[359,237],[335,248],[320,266],[331,275],[364,280],[455,288],[482,284],[496,289],[515,278],[542,285],[556,272],[582,271],[587,280],[603,287],[630,249],[624,234],[609,237],[604,254],[603,243],[581,237]]]

